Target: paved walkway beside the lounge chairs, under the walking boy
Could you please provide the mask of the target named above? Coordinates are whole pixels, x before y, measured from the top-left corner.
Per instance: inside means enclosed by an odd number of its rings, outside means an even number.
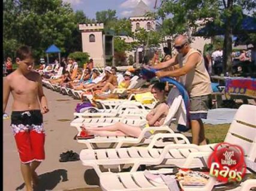
[[[40,176],[40,191],[45,190],[72,190],[76,188],[86,188],[78,190],[100,190],[89,189],[85,182],[89,179],[91,182],[97,181],[97,176],[88,175],[90,171],[80,161],[59,162],[59,154],[67,150],[73,150],[79,153],[85,148],[73,140],[77,130],[70,127],[70,121],[73,119],[74,108],[79,101],[73,100],[68,96],[62,96],[44,88],[49,101],[50,112],[44,115],[44,128],[46,130],[46,160],[38,167]],[[10,114],[13,98],[10,96],[6,112]],[[19,156],[14,142],[13,134],[10,129],[10,119],[4,120],[4,190],[25,190],[22,174],[20,172]]]

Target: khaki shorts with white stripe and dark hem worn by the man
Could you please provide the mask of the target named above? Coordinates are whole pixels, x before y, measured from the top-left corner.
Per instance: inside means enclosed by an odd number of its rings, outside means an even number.
[[[211,105],[212,98],[210,95],[191,97],[189,112],[191,120],[206,119]]]

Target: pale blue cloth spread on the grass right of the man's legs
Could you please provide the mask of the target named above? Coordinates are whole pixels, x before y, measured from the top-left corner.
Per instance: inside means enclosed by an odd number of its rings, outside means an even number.
[[[219,108],[211,109],[208,112],[207,119],[202,119],[204,124],[231,124],[237,109]]]

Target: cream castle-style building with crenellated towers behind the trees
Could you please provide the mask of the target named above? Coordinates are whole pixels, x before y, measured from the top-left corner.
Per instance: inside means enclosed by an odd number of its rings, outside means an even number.
[[[152,12],[150,8],[140,0],[129,17],[132,32],[136,32],[141,28],[147,31],[156,30],[156,21],[152,17],[145,16],[149,12]],[[105,66],[106,58],[114,56],[114,36],[113,34],[104,34],[103,29],[103,23],[79,24],[79,30],[82,33],[83,52],[89,53],[90,57],[94,59],[96,66],[100,67]],[[134,39],[128,36],[121,36],[121,38],[125,39],[125,42],[134,41]],[[191,47],[203,51],[204,44],[209,42],[209,39],[205,40],[201,37],[195,37]],[[162,44],[160,49],[162,50]],[[138,48],[138,52],[140,51],[142,51],[141,48]],[[135,56],[135,53],[130,52],[128,55]]]

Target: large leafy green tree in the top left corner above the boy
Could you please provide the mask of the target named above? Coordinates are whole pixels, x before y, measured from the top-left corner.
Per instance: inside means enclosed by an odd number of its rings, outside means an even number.
[[[13,54],[13,44],[29,45],[35,58],[52,44],[65,53],[76,29],[74,11],[61,0],[4,0],[5,56]]]

